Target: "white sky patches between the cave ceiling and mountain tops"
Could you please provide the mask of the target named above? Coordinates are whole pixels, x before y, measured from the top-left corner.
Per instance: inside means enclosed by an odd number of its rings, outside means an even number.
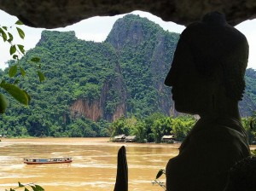
[[[131,14],[139,14],[141,17],[147,17],[148,20],[152,20],[155,23],[159,24],[165,30],[169,32],[183,32],[184,26],[179,26],[173,22],[166,22],[161,20],[159,17],[154,16],[153,14],[149,14],[147,12],[142,11],[133,11]],[[79,23],[76,23],[72,26],[67,26],[65,28],[56,28],[54,31],[75,31],[76,36],[80,39],[91,40],[95,42],[104,41],[108,33],[111,31],[113,23],[119,18],[123,17],[124,14],[120,14],[118,16],[104,16],[104,17],[92,17],[87,20],[82,20]],[[12,26],[15,24],[15,21],[18,19],[15,16],[11,16],[2,10],[0,10],[0,26]],[[36,43],[38,43],[41,32],[44,30],[43,28],[32,28],[29,26],[20,26],[20,28],[25,32],[25,39],[20,40],[18,33],[13,28],[14,39],[19,39],[19,41],[15,41],[15,43],[20,43],[25,46],[25,49],[32,49],[35,47]],[[255,20],[247,20],[240,25],[236,26],[236,28],[241,31],[246,37],[250,46],[250,55],[248,61],[248,67],[252,67],[256,69],[256,19]],[[1,38],[0,38],[1,39]],[[9,55],[9,44],[3,43],[3,40],[0,40],[0,68],[7,67],[5,62],[9,61],[11,56]]]

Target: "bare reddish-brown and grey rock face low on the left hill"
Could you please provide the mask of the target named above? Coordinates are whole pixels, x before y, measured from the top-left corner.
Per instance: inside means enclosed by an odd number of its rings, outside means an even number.
[[[94,121],[99,119],[114,121],[126,116],[126,90],[119,63],[116,63],[114,72],[116,75],[103,83],[98,99],[90,101],[79,98],[72,103],[70,112],[73,118],[84,116]]]

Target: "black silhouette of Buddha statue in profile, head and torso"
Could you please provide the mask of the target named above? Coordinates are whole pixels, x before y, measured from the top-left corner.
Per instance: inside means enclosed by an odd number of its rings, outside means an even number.
[[[165,84],[178,112],[201,119],[166,165],[167,191],[222,191],[230,167],[250,155],[238,111],[247,58],[247,39],[224,14],[206,14],[182,32]],[[119,169],[126,168],[122,153]],[[122,184],[114,191],[128,190]]]

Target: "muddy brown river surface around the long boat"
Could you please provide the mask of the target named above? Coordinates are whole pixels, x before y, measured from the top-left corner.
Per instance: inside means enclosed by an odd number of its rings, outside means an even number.
[[[122,145],[126,148],[129,190],[163,190],[151,182],[177,155],[178,145],[117,143],[108,142],[108,138],[31,138],[0,142],[0,191],[15,188],[17,182],[36,182],[46,191],[112,191]],[[72,157],[73,162],[23,164],[23,158],[54,157]]]

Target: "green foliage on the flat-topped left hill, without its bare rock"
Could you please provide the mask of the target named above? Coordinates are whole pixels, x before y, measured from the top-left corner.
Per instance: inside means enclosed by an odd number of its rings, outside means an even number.
[[[117,56],[113,47],[108,43],[79,40],[74,32],[44,31],[36,48],[20,60],[20,65],[28,72],[32,67],[25,62],[33,55],[41,58],[46,80],[38,84],[36,74],[20,78],[21,88],[30,93],[32,101],[29,107],[11,102],[10,109],[1,116],[2,133],[9,136],[100,136],[99,129],[104,125],[84,116],[73,118],[69,107],[77,99],[100,100],[104,82],[115,80],[119,75],[115,72]],[[111,93],[105,92],[105,104],[114,97],[122,99],[118,92]]]

